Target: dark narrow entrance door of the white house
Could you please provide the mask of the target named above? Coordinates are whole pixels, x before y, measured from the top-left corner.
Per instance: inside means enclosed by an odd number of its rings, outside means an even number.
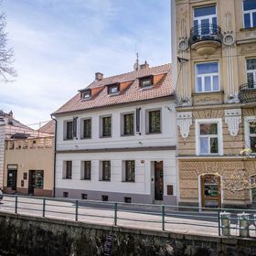
[[[164,195],[163,161],[155,161],[155,200],[162,201]]]

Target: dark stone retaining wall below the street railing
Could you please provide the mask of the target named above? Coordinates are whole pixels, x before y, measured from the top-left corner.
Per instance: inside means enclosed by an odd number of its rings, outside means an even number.
[[[112,234],[112,254],[105,241]],[[105,247],[105,249],[107,246]],[[0,213],[0,254],[8,256],[253,256],[255,240],[125,229]]]

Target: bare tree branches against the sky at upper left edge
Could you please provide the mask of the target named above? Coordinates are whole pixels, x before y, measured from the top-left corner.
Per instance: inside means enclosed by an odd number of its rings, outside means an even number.
[[[2,13],[0,14],[0,77],[1,80],[10,81],[8,77],[16,77],[16,69],[13,67],[14,50],[7,45],[5,26],[5,13]]]

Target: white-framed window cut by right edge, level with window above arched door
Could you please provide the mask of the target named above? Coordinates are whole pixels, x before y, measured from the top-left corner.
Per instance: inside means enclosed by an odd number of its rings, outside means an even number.
[[[256,117],[245,117],[245,143],[251,153],[256,154]]]

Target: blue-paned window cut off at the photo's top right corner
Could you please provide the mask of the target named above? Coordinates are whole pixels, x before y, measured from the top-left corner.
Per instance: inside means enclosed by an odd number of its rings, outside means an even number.
[[[256,1],[243,1],[243,23],[244,28],[256,27]]]

